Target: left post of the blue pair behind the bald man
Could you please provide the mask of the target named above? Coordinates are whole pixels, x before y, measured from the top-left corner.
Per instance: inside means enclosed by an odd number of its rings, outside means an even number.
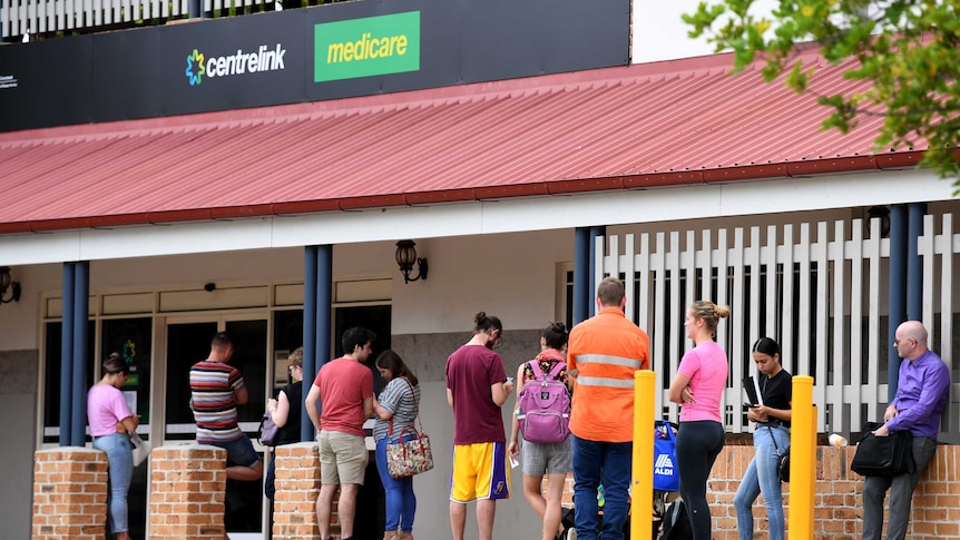
[[[886,400],[897,395],[897,380],[900,374],[900,355],[893,346],[897,327],[907,321],[907,259],[908,255],[907,207],[893,205],[890,208],[890,317],[886,361]]]

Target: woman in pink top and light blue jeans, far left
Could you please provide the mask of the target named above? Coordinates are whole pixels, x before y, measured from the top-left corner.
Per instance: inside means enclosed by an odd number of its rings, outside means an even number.
[[[130,369],[117,354],[104,362],[104,377],[87,393],[87,421],[94,436],[94,448],[107,454],[110,491],[110,528],[117,540],[130,540],[127,527],[127,491],[134,475],[134,458],[129,433],[137,429],[137,416],[124,400],[120,389],[127,382]]]

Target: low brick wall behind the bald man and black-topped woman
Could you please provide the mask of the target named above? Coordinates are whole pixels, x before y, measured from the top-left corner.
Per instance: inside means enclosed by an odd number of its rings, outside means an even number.
[[[814,538],[831,540],[860,539],[863,530],[861,491],[863,477],[850,470],[855,446],[816,449],[816,485],[814,488]],[[735,540],[736,510],[733,498],[746,467],[753,459],[753,446],[727,445],[711,473],[707,501],[711,504],[715,540]],[[960,539],[960,446],[939,446],[917,491],[907,537],[912,540]],[[784,510],[790,529],[790,484],[784,485]],[[888,500],[889,502],[889,500]],[[767,538],[766,509],[763,497],[753,508],[755,538]]]

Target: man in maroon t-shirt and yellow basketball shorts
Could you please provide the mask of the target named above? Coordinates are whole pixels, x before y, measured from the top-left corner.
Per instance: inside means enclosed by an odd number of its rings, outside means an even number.
[[[447,402],[453,408],[453,479],[450,528],[463,540],[467,503],[477,501],[480,540],[493,534],[497,499],[510,497],[507,435],[500,406],[513,390],[493,348],[503,341],[500,320],[480,312],[473,338],[447,361]]]

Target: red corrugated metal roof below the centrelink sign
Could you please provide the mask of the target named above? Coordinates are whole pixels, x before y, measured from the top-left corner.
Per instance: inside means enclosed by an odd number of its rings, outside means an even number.
[[[816,67],[820,92],[854,91]],[[0,233],[904,167],[729,56],[0,134]]]

